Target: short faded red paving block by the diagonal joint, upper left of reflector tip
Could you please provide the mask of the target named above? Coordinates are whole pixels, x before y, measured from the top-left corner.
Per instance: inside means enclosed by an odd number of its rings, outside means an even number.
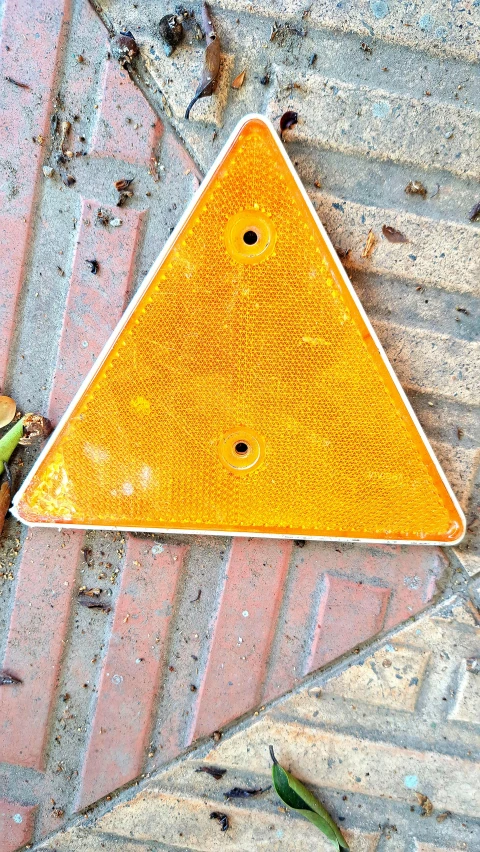
[[[162,124],[127,71],[106,63],[91,154],[151,165]]]

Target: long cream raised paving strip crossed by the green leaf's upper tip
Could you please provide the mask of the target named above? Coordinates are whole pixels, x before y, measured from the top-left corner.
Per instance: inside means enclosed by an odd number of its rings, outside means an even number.
[[[480,767],[473,759],[329,732],[297,722],[258,722],[251,729],[248,743],[241,736],[232,737],[207,759],[220,766],[248,765],[251,772],[266,773],[266,744],[270,743],[278,759],[310,784],[410,803],[414,797],[409,779],[415,778],[415,789],[428,791],[438,810],[472,817],[480,813]],[[348,760],[338,759],[340,755],[348,755]]]

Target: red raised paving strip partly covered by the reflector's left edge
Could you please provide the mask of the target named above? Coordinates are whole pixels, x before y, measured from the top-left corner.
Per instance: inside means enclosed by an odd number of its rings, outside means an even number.
[[[118,228],[96,224],[97,211],[120,218]],[[82,199],[49,417],[57,423],[120,319],[135,263],[143,213]],[[87,260],[98,262],[93,275]]]

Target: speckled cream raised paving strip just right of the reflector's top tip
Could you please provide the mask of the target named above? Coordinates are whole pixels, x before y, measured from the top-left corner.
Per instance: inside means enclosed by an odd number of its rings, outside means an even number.
[[[472,156],[478,136],[475,128],[479,127],[475,111],[432,103],[428,97],[419,101],[385,89],[365,91],[314,72],[298,75],[301,94],[297,95],[288,88],[287,74],[283,69],[277,71],[279,94],[270,102],[268,114],[298,110],[299,122],[292,130],[295,139],[379,159],[435,162],[454,174],[478,177]]]

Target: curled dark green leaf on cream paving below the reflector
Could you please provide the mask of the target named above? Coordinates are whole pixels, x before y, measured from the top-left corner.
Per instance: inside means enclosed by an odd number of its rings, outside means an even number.
[[[328,837],[335,845],[337,852],[342,852],[342,850],[348,852],[348,843],[342,832],[317,797],[310,790],[307,790],[298,778],[290,775],[290,772],[280,766],[272,746],[270,746],[270,755],[273,760],[273,785],[282,802],[320,829],[325,837]]]

